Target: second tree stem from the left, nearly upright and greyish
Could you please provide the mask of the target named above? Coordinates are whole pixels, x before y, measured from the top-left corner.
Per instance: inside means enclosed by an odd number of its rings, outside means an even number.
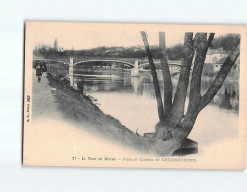
[[[172,106],[172,79],[166,57],[165,33],[159,32],[160,63],[164,81],[164,112],[165,118],[171,111]]]

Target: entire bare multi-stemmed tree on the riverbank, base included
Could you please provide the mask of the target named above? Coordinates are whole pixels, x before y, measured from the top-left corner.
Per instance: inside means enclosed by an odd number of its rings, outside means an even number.
[[[172,107],[167,108],[166,105],[164,105],[167,114],[167,120],[161,120],[164,119],[163,118],[164,110],[162,112],[163,113],[162,116],[160,114],[160,111],[163,109],[163,106],[162,106],[162,99],[160,95],[157,74],[153,64],[152,55],[147,43],[146,34],[145,32],[141,32],[141,33],[154,78],[154,87],[155,87],[156,99],[158,104],[158,112],[160,116],[160,122],[155,127],[155,130],[156,129],[157,130],[154,137],[156,141],[154,147],[155,150],[157,150],[162,155],[172,155],[172,153],[180,147],[183,140],[186,139],[189,133],[191,132],[199,112],[211,102],[213,97],[221,88],[224,80],[226,79],[228,73],[230,72],[232,66],[234,65],[235,61],[237,60],[240,54],[240,48],[238,45],[237,48],[234,48],[231,51],[231,53],[229,54],[222,68],[218,72],[211,86],[209,87],[207,92],[203,96],[201,96],[202,70],[208,48],[209,46],[211,46],[211,42],[214,38],[214,33],[210,33],[208,39],[207,39],[207,33],[197,33],[194,40],[193,40],[193,33],[185,33],[185,38],[184,38],[185,54],[182,61],[177,91],[174,97],[174,101],[172,103]],[[166,97],[170,95],[169,93],[171,93],[169,87],[170,86],[169,83],[171,82],[171,77],[169,77],[169,80],[166,79],[169,73],[167,68],[169,69],[169,67],[165,56],[164,38],[165,38],[164,34],[160,33],[160,49],[162,53],[161,56],[162,72],[164,77],[164,86],[166,86],[166,90],[168,91],[166,94],[164,94],[165,95],[164,97]],[[195,51],[196,51],[196,57],[195,57],[191,85],[190,85],[189,105],[187,112],[184,116],[185,99],[187,95],[190,70],[191,70]],[[167,100],[169,100],[169,102],[172,102],[170,96],[168,97],[168,99],[166,99],[166,101]],[[170,113],[167,112],[167,110],[169,109],[170,109]]]

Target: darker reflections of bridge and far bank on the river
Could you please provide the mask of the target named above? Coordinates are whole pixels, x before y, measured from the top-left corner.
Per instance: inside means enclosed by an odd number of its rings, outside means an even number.
[[[158,72],[158,77],[162,88],[162,75]],[[77,88],[77,83],[83,81],[84,90],[89,93],[99,92],[115,92],[136,94],[142,96],[148,96],[155,98],[155,92],[153,89],[152,75],[150,72],[141,72],[139,77],[131,77],[129,71],[113,72],[111,74],[101,75],[95,73],[94,75],[74,76],[74,87]],[[175,86],[178,81],[178,76],[173,77],[173,85]],[[213,79],[203,77],[202,79],[202,94],[206,92],[211,85]],[[173,94],[176,88],[173,88]],[[211,102],[212,105],[232,110],[237,112],[239,107],[239,83],[235,80],[226,80]]]

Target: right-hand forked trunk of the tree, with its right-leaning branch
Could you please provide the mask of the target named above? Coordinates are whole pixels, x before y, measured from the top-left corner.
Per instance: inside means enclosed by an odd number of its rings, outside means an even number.
[[[200,36],[202,39],[205,40],[205,35],[201,34]],[[195,60],[195,66],[192,74],[188,109],[181,125],[179,125],[179,128],[173,132],[173,136],[186,138],[189,135],[195,124],[199,112],[211,102],[213,97],[219,91],[225,78],[227,77],[228,73],[230,72],[232,66],[234,65],[235,61],[239,56],[240,51],[238,46],[237,48],[234,48],[231,51],[222,68],[220,69],[219,73],[215,77],[213,83],[209,87],[208,91],[204,94],[203,97],[201,97],[201,73],[206,53],[209,45],[211,44],[211,41],[213,40],[213,36],[214,34],[211,33],[207,42],[204,41],[204,44],[202,44],[202,40],[200,41],[200,45],[198,46],[197,57]],[[177,132],[178,130],[182,132]]]

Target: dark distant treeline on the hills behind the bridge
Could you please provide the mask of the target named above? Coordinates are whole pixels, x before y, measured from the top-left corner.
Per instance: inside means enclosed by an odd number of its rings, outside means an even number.
[[[230,51],[239,42],[238,34],[227,34],[219,36],[212,41],[211,49],[223,48],[225,51]],[[83,43],[82,43],[83,44]],[[151,52],[154,59],[159,59],[160,49],[158,46],[152,46]],[[169,47],[166,50],[169,60],[181,60],[184,54],[184,45],[177,44]],[[44,58],[84,58],[84,57],[112,57],[112,58],[138,58],[146,57],[145,49],[142,46],[133,47],[97,47],[84,50],[63,50],[62,48],[54,48],[45,44],[35,47],[33,54]]]

